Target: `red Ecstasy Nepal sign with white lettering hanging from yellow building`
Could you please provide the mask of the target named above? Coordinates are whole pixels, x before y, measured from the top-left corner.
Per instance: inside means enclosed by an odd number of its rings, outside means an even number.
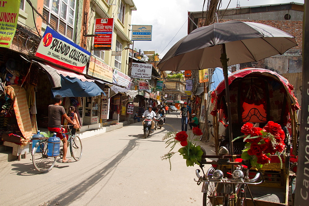
[[[111,50],[114,31],[114,19],[95,19],[94,50]],[[121,52],[120,52],[121,54]]]

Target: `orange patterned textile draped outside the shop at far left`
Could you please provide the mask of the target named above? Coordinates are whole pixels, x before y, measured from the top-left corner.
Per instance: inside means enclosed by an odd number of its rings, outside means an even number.
[[[13,106],[17,119],[17,124],[21,133],[23,134],[23,138],[20,140],[21,145],[26,146],[32,134],[32,125],[26,97],[26,90],[23,87],[12,84],[10,86],[6,86],[5,92],[11,97],[12,100],[14,100],[15,95],[18,92]]]

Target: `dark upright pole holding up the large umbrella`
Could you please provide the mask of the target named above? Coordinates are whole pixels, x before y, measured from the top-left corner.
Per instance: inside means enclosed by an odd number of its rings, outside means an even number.
[[[228,82],[228,73],[227,73],[227,62],[229,59],[226,58],[226,50],[225,44],[222,44],[222,53],[221,53],[221,63],[223,69],[223,76],[225,82],[225,92],[226,92],[226,104],[227,104],[227,118],[229,123],[229,136],[230,136],[230,151],[231,155],[234,155],[234,147],[233,147],[233,135],[232,135],[232,120],[231,120],[231,103],[230,103],[230,90],[229,90],[229,82]],[[232,165],[232,171],[234,171],[234,165]]]

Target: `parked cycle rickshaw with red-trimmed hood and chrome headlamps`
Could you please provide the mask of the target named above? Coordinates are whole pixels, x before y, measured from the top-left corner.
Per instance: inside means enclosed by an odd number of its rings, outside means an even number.
[[[200,170],[196,171],[199,178],[197,184],[202,183],[203,205],[288,205],[290,156],[297,155],[299,127],[296,114],[299,105],[294,97],[294,88],[276,72],[260,68],[233,72],[229,75],[228,82],[231,120],[227,119],[224,81],[211,94],[216,155],[203,155],[201,169],[205,164],[212,164],[212,167],[208,171],[203,170],[202,175],[199,174]],[[240,158],[246,142],[243,142],[243,138],[233,142],[232,156],[228,154],[230,138],[243,135],[240,128],[246,122],[258,124],[262,128],[268,121],[278,123],[285,132],[284,154],[271,155],[270,163],[263,165],[259,171],[251,168],[249,163],[246,169],[247,179],[237,180],[238,176],[234,174],[233,168],[242,170],[246,167],[240,166],[244,165]],[[229,137],[229,123],[233,137]],[[220,124],[226,127],[225,135],[219,134]],[[290,133],[287,125],[291,126]],[[293,149],[290,149],[292,146]],[[207,161],[206,158],[218,160]]]

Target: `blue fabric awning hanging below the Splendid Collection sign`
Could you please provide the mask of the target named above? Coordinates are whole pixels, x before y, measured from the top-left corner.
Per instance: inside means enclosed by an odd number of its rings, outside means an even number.
[[[61,89],[52,89],[53,95],[61,95],[62,97],[94,97],[106,94],[94,82],[81,81],[76,77],[61,76]]]

